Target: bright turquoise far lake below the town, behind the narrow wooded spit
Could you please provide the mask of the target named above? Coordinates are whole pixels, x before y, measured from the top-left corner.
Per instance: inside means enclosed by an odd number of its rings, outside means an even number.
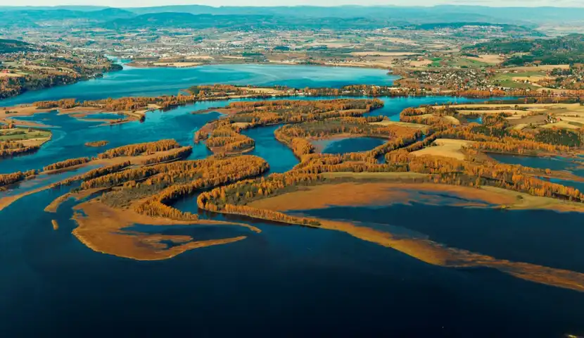
[[[343,87],[348,84],[391,85],[397,77],[385,70],[311,65],[204,65],[195,68],[134,68],[107,73],[102,78],[68,86],[26,92],[0,100],[0,106],[33,101],[77,98],[79,100],[122,96],[176,95],[196,84],[286,85],[293,88]]]

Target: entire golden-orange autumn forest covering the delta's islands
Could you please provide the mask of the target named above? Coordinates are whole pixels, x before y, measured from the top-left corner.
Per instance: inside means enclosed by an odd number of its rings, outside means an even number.
[[[224,89],[233,90],[231,87]],[[74,102],[61,104],[68,106]],[[502,152],[571,156],[582,146],[582,130],[517,130],[509,123],[509,113],[485,114],[482,124],[466,123],[457,108],[447,104],[402,111],[402,122],[418,125],[393,123],[383,117],[367,115],[381,106],[383,102],[378,99],[236,101],[224,108],[225,115],[196,132],[195,141],[206,142],[214,156],[184,161],[192,148],[181,147],[173,139],[130,144],[104,151],[97,158],[166,153],[148,158],[143,164],[125,162],[94,169],[66,182],[79,180],[77,191],[101,190],[102,203],[151,217],[197,220],[195,213],[184,213],[172,204],[186,196],[198,195],[198,208],[206,211],[312,227],[319,226],[319,222],[252,208],[248,204],[310,185],[335,184],[340,179],[324,174],[338,172],[421,173],[426,175],[417,177],[415,182],[502,187],[533,196],[584,203],[584,194],[578,189],[540,178],[559,175],[552,170],[497,163],[485,155]],[[465,109],[472,111],[473,107]],[[456,123],[457,118],[463,123]],[[242,130],[267,125],[279,125],[274,137],[291,148],[300,160],[286,173],[266,175],[269,165],[264,159],[241,154],[255,146],[255,140],[241,134]],[[385,142],[368,151],[344,154],[319,154],[311,143],[314,139],[336,135],[378,137]],[[436,139],[472,142],[461,148],[464,159],[412,154],[433,146]],[[45,170],[67,168],[84,161],[89,158],[54,163]],[[15,173],[1,178],[5,184],[11,184],[23,177],[25,174]]]

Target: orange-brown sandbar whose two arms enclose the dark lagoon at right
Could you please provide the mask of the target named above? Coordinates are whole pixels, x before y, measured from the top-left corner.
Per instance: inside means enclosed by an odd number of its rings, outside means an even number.
[[[392,186],[399,188],[397,192],[395,189],[390,189]],[[426,189],[438,192],[446,191],[459,194],[459,196],[471,197],[472,199],[484,199],[490,204],[509,203],[516,201],[515,196],[520,194],[516,192],[507,194],[502,192],[504,189],[493,187],[475,189],[469,187],[447,186],[444,184],[431,183],[340,183],[307,187],[307,189],[303,189],[298,192],[291,192],[288,194],[274,196],[269,199],[254,201],[249,205],[255,208],[267,208],[274,211],[298,211],[325,208],[326,206],[331,205],[371,205],[372,203],[379,203],[379,201],[383,200],[383,198],[386,198],[388,194],[391,195],[390,197],[393,200],[407,199],[407,191],[404,192],[403,190],[408,188],[407,186],[409,186],[409,189]],[[385,194],[385,196],[380,196],[380,194]],[[523,195],[525,194],[522,194],[522,196]],[[551,201],[548,201],[546,198],[535,196],[531,197],[533,199],[528,201],[521,199],[520,205],[524,204],[524,206],[535,207],[535,203],[540,203],[537,205],[538,207],[545,208],[550,206]],[[555,201],[554,199],[549,200]],[[387,199],[385,201],[387,201]],[[561,206],[562,204],[559,205]],[[558,205],[555,205],[554,208],[557,208],[557,206]],[[580,211],[583,211],[583,209],[584,207],[580,208]],[[314,220],[317,220],[320,223],[319,227],[322,229],[346,232],[353,237],[398,250],[402,253],[406,253],[409,256],[433,265],[440,265],[450,268],[494,268],[502,271],[503,273],[513,275],[514,277],[519,277],[523,280],[552,285],[554,287],[572,289],[578,292],[584,292],[583,273],[557,268],[548,268],[531,263],[497,259],[492,256],[483,255],[481,253],[474,253],[463,249],[448,247],[425,238],[407,237],[404,234],[392,234],[391,232],[375,230],[369,227],[359,226],[344,221],[326,220],[321,218],[314,218]]]

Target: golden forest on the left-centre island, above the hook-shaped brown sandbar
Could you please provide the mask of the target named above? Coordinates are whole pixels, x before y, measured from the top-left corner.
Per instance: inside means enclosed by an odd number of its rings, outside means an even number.
[[[177,199],[202,189],[255,177],[269,169],[267,162],[257,156],[212,157],[138,168],[127,168],[127,165],[129,163],[92,170],[81,178],[80,190],[119,187],[104,193],[103,203],[118,208],[132,206],[138,213],[174,220],[197,218],[172,208],[170,204]]]

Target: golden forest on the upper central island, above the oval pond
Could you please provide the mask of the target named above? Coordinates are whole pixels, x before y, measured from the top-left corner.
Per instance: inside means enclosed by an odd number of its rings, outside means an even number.
[[[364,113],[369,113],[381,106],[383,106],[383,101],[379,99],[232,102],[227,106],[227,110],[231,111],[227,118],[215,120],[203,126],[196,132],[194,139],[195,142],[206,140],[206,145],[215,154],[236,154],[249,151],[255,146],[255,141],[241,134],[241,130],[265,125],[296,123],[294,126],[305,127],[303,137],[324,137],[343,132],[391,137],[389,128],[369,125],[369,122],[379,122],[381,118],[362,117]],[[284,136],[284,134],[288,135]],[[294,149],[297,147],[305,149],[298,154],[309,154],[314,150],[306,142],[298,140],[303,138],[298,136],[300,135],[295,134],[293,129],[277,132],[277,137],[281,142],[286,144],[294,142]],[[300,156],[298,154],[297,156]]]

